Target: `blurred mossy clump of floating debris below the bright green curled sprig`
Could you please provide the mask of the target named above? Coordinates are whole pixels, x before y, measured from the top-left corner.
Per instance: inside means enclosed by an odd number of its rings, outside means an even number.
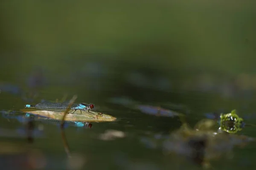
[[[184,124],[163,142],[165,153],[176,153],[191,159],[203,166],[209,165],[209,160],[229,155],[235,146],[244,146],[255,139],[226,132],[217,133],[210,130],[215,126],[214,120],[199,122],[194,129]]]

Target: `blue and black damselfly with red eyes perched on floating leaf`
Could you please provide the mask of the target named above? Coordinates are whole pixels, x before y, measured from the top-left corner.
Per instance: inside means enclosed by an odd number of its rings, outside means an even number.
[[[25,105],[25,108],[36,108],[39,110],[44,110],[44,111],[55,111],[55,112],[61,112],[65,111],[68,108],[69,103],[53,103],[53,102],[43,102],[43,103],[38,103],[37,105]],[[70,112],[75,113],[75,111],[80,110],[81,113],[82,111],[88,111],[89,113],[90,110],[94,108],[93,104],[84,104],[84,103],[79,103],[79,104],[73,104],[70,107]],[[99,112],[96,112],[99,114]],[[92,113],[94,114],[94,113]]]

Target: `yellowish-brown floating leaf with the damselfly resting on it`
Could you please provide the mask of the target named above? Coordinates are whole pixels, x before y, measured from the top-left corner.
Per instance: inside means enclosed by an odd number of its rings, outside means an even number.
[[[35,109],[21,109],[20,111],[56,120],[62,120],[64,115],[64,112],[40,111]],[[76,111],[73,114],[67,114],[65,117],[65,121],[72,122],[113,122],[115,120],[116,118],[113,116],[108,114],[98,115],[94,111],[90,111],[90,113],[88,111]]]

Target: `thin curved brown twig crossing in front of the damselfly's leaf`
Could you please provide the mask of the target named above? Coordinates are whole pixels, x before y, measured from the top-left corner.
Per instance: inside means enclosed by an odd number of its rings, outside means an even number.
[[[67,153],[67,156],[69,156],[69,157],[71,157],[71,156],[70,156],[70,149],[69,149],[69,146],[67,144],[67,139],[66,139],[66,136],[65,136],[65,133],[64,133],[64,122],[65,122],[65,117],[67,116],[67,113],[70,110],[71,105],[75,102],[76,98],[77,98],[77,96],[74,95],[73,98],[70,100],[70,103],[69,103],[66,111],[64,112],[64,115],[63,115],[62,120],[61,120],[61,137],[62,137],[62,140],[63,140],[65,151]]]

